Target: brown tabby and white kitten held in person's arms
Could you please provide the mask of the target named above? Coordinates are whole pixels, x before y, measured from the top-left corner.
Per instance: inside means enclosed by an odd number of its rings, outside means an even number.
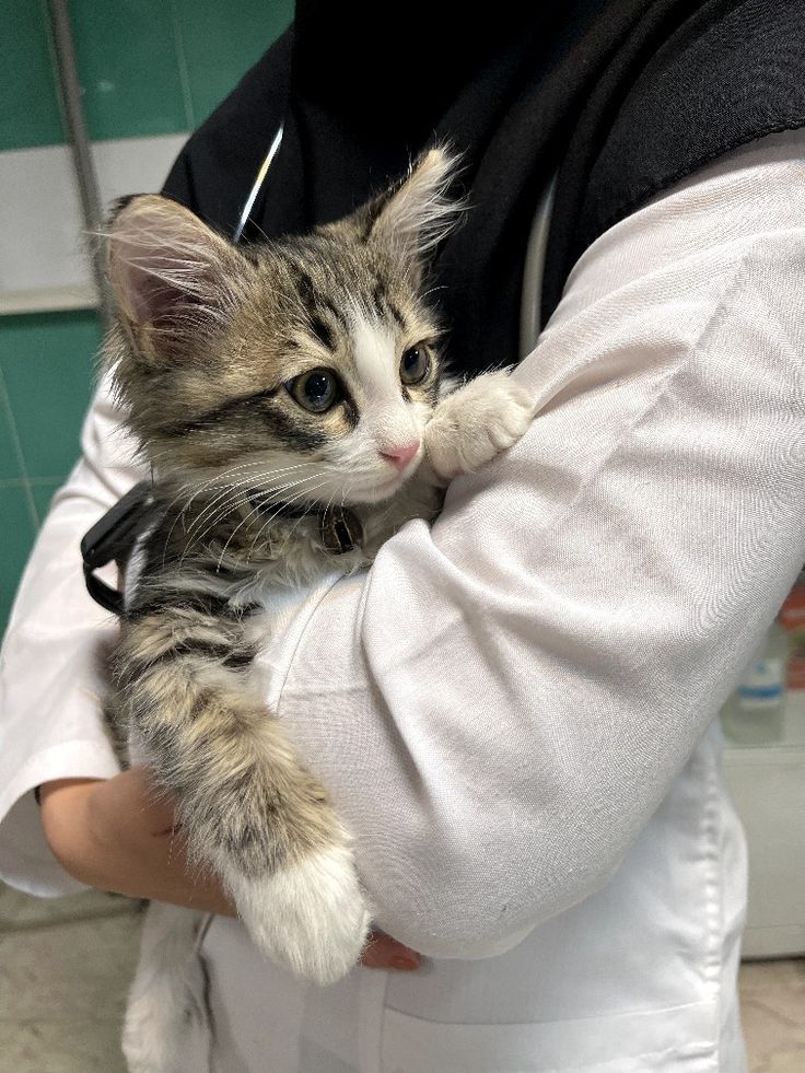
[[[432,150],[303,237],[237,247],[155,195],[108,235],[106,362],[156,475],[108,714],[259,949],[320,983],[357,963],[371,908],[327,791],[252,686],[261,600],[371,562],[534,412],[508,373],[458,386],[440,360],[423,283],[457,215],[452,164]],[[191,971],[194,914],[158,912],[127,1022],[137,1073],[170,1070],[160,1037]]]

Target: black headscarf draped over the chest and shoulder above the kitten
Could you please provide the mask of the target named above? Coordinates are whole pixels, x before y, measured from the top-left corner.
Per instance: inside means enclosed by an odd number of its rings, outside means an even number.
[[[786,34],[802,24],[805,38],[803,9],[802,0],[498,0],[481,16],[455,0],[299,0],[293,27],[190,139],[165,193],[231,234],[284,121],[246,232],[272,237],[343,215],[423,148],[450,142],[463,153],[459,185],[470,203],[435,263],[451,358],[469,373],[509,364],[518,357],[532,217],[550,176],[559,168],[547,314],[585,243],[672,173],[779,129],[781,109],[782,125],[805,124],[805,96],[793,85],[773,106],[746,107],[740,72],[762,69],[773,40],[739,40],[758,18],[765,28],[782,19]],[[702,40],[704,55],[696,51]],[[725,51],[719,69],[713,60]],[[790,51],[784,74],[802,86],[802,43]],[[702,65],[737,86],[733,107],[744,100],[745,118],[728,137]],[[699,94],[692,107],[686,79]],[[664,114],[657,85],[680,80],[675,112]]]

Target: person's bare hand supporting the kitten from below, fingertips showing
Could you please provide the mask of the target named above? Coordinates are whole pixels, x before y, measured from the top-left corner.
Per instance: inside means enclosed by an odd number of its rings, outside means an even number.
[[[190,864],[173,803],[143,768],[113,779],[59,779],[39,788],[45,837],[71,876],[102,890],[235,917],[218,877]],[[373,932],[361,964],[415,969],[419,956]]]

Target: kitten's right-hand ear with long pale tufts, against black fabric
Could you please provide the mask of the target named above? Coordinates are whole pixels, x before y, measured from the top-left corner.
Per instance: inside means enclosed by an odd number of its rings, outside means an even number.
[[[425,260],[463,210],[459,201],[447,197],[457,164],[457,155],[445,149],[423,153],[400,184],[370,205],[370,237],[407,260]]]

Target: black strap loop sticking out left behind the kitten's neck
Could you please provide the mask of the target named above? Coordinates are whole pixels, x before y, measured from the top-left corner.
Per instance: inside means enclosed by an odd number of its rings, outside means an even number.
[[[152,506],[151,481],[141,481],[119,499],[81,541],[86,590],[95,603],[115,615],[122,614],[122,593],[107,585],[95,571],[109,562],[128,560],[137,537],[151,517]]]

